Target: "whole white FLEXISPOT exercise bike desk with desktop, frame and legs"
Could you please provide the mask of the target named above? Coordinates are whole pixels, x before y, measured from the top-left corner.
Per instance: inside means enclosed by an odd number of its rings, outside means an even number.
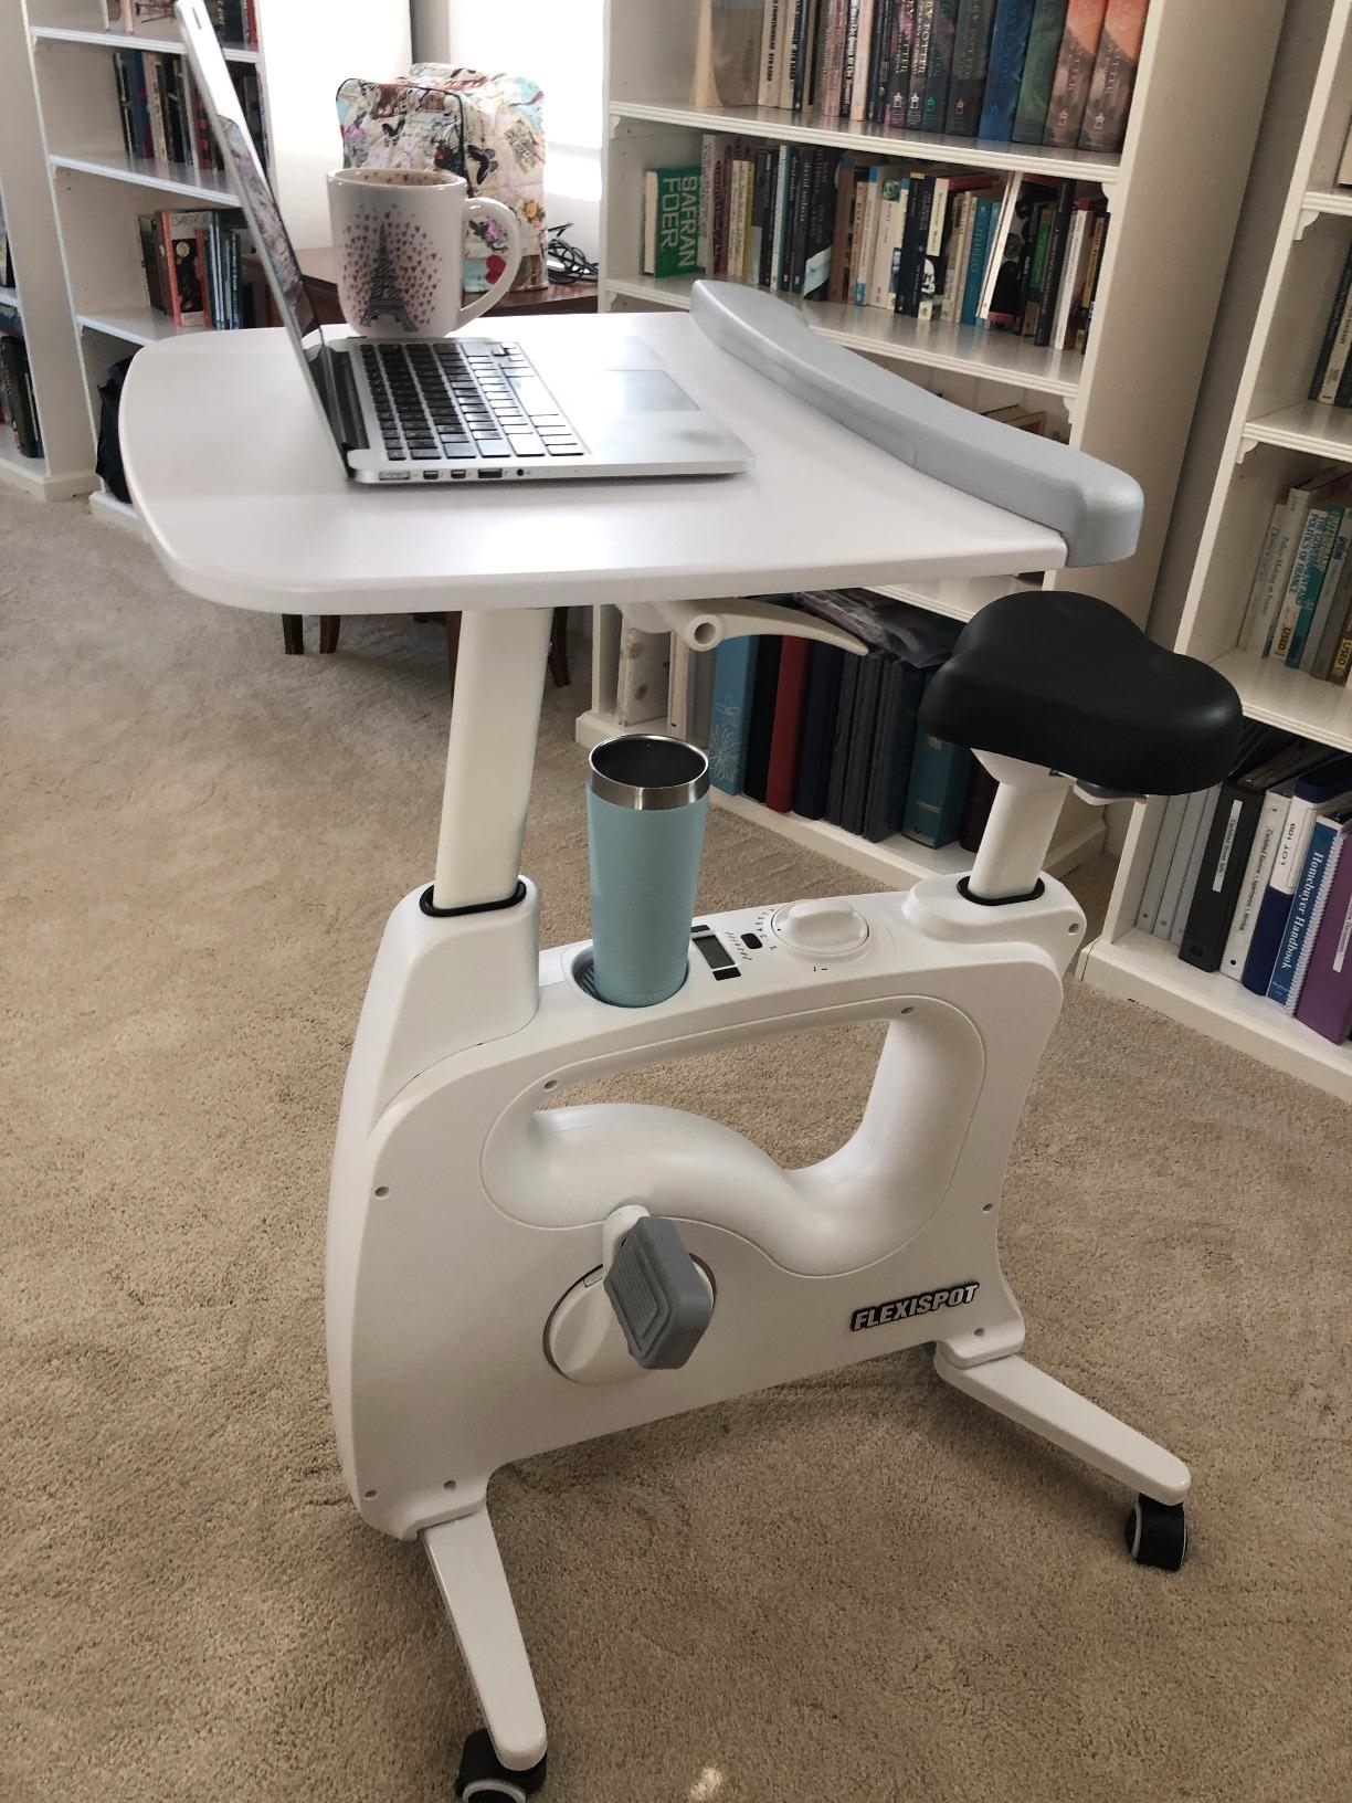
[[[618,1010],[575,981],[584,947],[539,950],[539,898],[519,882],[553,608],[642,615],[1051,570],[1065,563],[1062,535],[918,474],[690,317],[470,330],[526,355],[568,339],[579,359],[647,341],[755,467],[357,489],[281,332],[148,346],[121,429],[150,543],[191,593],[272,613],[465,613],[436,882],[389,920],[344,1091],[328,1352],[353,1502],[384,1533],[422,1534],[489,1724],[490,1747],[470,1736],[460,1794],[525,1798],[544,1776],[544,1720],[485,1509],[503,1462],[937,1341],[950,1383],[1165,1509],[1188,1471],[1019,1356],[1022,1318],[999,1268],[1009,1143],[1082,943],[1083,914],[1060,883],[1024,900],[1033,883],[979,891],[973,873],[973,891],[1015,898],[1008,907],[977,907],[939,878],[842,898],[869,938],[838,959],[800,957],[770,907],[708,916],[745,981],[716,984],[694,959],[669,1002]],[[784,613],[784,629],[802,618]],[[1037,876],[1071,777],[1044,761],[1019,792],[1029,766],[990,763],[1035,815]],[[999,842],[1026,862],[1028,811],[1022,826],[1000,811],[1006,788],[982,856]],[[741,950],[754,929],[770,950]],[[865,1019],[889,1020],[889,1035],[863,1123],[804,1172],[678,1111],[541,1107],[582,1076]],[[678,1221],[716,1289],[707,1336],[678,1370],[642,1370],[597,1314],[595,1280],[635,1203]]]

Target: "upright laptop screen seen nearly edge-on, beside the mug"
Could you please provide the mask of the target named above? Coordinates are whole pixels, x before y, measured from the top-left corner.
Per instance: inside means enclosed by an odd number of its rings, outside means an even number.
[[[249,135],[243,108],[240,106],[229,67],[216,41],[216,32],[211,27],[202,0],[178,0],[173,11],[184,34],[184,45],[193,65],[193,74],[196,76],[202,105],[207,110],[225,160],[225,173],[240,197],[240,206],[252,229],[272,299],[278,305],[306,379],[314,388],[319,409],[324,415],[324,426],[343,456],[343,438],[335,424],[337,407],[330,395],[328,368],[323,357],[323,328],[305,288],[305,276],[301,274],[290,233],[272,193],[272,184],[263,173],[258,146]],[[310,339],[308,344],[306,339]]]

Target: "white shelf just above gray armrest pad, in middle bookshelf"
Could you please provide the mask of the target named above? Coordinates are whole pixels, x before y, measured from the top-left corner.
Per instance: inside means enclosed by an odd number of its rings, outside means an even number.
[[[613,294],[660,307],[689,307],[692,276],[615,276]],[[982,332],[946,321],[903,319],[878,307],[842,307],[838,301],[795,301],[809,323],[836,344],[869,357],[919,362],[930,370],[957,370],[990,382],[1008,382],[1035,395],[1074,395],[1083,355],[1047,350],[1008,332]]]

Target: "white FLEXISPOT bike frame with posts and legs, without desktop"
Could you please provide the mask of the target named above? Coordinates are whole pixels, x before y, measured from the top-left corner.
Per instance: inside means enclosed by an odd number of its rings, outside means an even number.
[[[772,907],[701,916],[739,979],[692,957],[671,1001],[611,1008],[577,983],[584,945],[539,950],[519,880],[548,635],[548,608],[463,622],[436,880],[391,914],[366,993],[326,1284],[348,1489],[373,1527],[422,1536],[496,1754],[523,1772],[544,1718],[485,1509],[516,1459],[934,1341],[968,1396],[1157,1502],[1188,1491],[1177,1459],[1022,1359],[999,1262],[1009,1147],[1083,934],[1038,882],[1071,779],[986,759],[1002,786],[966,892],[851,898],[858,950],[797,952]],[[863,1120],[806,1170],[674,1109],[544,1107],[858,1020],[887,1022]],[[620,1210],[674,1219],[714,1289],[680,1370],[635,1363],[604,1313]]]

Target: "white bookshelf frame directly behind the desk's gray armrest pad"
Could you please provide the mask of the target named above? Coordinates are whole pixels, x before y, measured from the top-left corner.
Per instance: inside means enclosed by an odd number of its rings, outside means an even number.
[[[1107,256],[1085,353],[1038,348],[999,332],[928,325],[831,303],[802,303],[811,325],[885,368],[986,411],[1046,409],[1078,449],[1130,471],[1146,496],[1137,554],[1123,564],[1056,572],[1145,622],[1188,442],[1258,119],[1278,40],[1276,0],[1152,0],[1130,124],[1119,155],[889,132],[781,112],[692,106],[698,0],[607,0],[602,184],[604,308],[689,307],[689,279],[642,274],[642,177],[699,160],[705,132],[772,142],[833,144],[916,166],[1024,171],[1096,182],[1110,209]],[[905,591],[932,611],[970,618],[1011,579]],[[598,645],[613,635],[595,633]],[[613,682],[600,673],[582,734],[611,725]],[[896,840],[863,846],[818,822],[737,802],[766,826],[872,874],[901,882],[943,865]],[[1065,810],[1058,867],[1101,847],[1098,813]],[[939,860],[937,864],[934,860]]]

